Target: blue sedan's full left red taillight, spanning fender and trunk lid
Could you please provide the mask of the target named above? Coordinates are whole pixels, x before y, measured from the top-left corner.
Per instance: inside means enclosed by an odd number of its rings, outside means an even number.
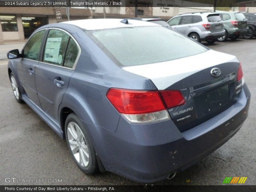
[[[138,91],[110,88],[107,98],[122,114],[152,113],[177,107],[186,102],[178,90]]]

